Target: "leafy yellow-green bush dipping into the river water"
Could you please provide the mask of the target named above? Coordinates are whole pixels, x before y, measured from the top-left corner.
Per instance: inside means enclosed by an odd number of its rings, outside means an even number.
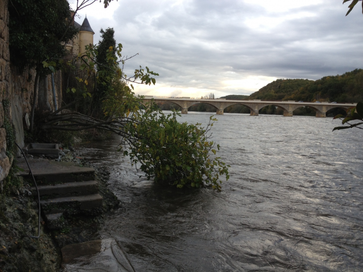
[[[132,165],[139,165],[148,179],[153,177],[157,183],[178,188],[207,184],[220,190],[220,178],[225,175],[229,179],[230,166],[215,156],[215,143],[210,141],[209,131],[216,119],[211,116],[208,125],[201,127],[199,123],[179,123],[178,115],[178,111],[165,115],[154,102],[147,105],[137,121],[125,128],[130,138],[138,140],[127,141],[130,152],[125,150],[124,155],[129,155]]]

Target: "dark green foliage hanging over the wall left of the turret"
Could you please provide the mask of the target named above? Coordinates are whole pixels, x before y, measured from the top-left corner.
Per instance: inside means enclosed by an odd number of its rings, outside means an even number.
[[[69,23],[68,1],[11,0],[8,9],[11,63],[20,69],[36,67],[42,74],[54,72],[66,55],[64,43],[78,32]],[[50,66],[42,65],[46,60]]]

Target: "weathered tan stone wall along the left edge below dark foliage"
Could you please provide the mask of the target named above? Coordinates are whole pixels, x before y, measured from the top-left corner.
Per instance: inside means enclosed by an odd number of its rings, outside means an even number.
[[[9,54],[9,12],[8,0],[0,0],[0,191],[2,181],[8,175],[12,160],[6,156],[6,132],[3,128],[4,118],[13,127],[15,141],[24,146],[24,130],[28,129],[26,117],[30,116],[33,101],[35,69],[18,71],[10,64]],[[57,104],[62,101],[62,74],[54,74]],[[39,83],[37,107],[46,104],[48,110],[53,111],[54,97],[51,75],[43,78]],[[17,156],[20,156],[18,150]]]

